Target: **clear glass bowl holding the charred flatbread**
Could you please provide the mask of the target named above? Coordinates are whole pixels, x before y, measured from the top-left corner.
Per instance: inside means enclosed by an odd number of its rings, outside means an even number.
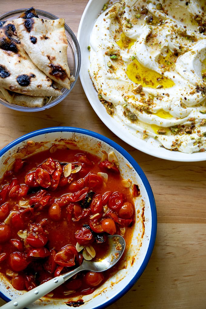
[[[19,15],[21,15],[26,10],[27,9],[18,9],[18,10],[7,12],[7,13],[0,16],[0,21],[13,20],[15,18],[18,18]],[[57,16],[55,16],[51,13],[48,13],[46,11],[36,9],[36,12],[37,12],[39,18],[52,19],[52,20],[58,19]],[[75,83],[78,79],[78,76],[79,76],[79,71],[80,71],[80,66],[81,66],[81,52],[80,52],[78,40],[67,24],[65,24],[65,34],[66,34],[67,41],[68,41],[68,49],[67,49],[68,65],[69,65],[70,72],[73,74],[73,76],[75,78],[75,81],[73,83],[71,83],[71,85],[70,85],[70,89],[62,88],[61,89],[62,95],[59,95],[57,97],[50,97],[48,103],[45,104],[42,107],[31,108],[31,107],[19,106],[19,105],[11,104],[11,103],[5,101],[4,99],[0,98],[0,103],[2,105],[9,107],[9,108],[12,108],[12,109],[15,109],[17,111],[22,111],[22,112],[38,112],[38,111],[42,111],[46,108],[50,108],[50,107],[58,104],[63,99],[65,99],[67,95],[69,95],[70,91],[73,89],[73,87],[74,87],[74,85],[75,85]]]

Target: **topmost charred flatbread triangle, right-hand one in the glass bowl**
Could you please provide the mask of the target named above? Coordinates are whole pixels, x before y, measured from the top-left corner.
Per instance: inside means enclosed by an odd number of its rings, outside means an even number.
[[[58,85],[70,89],[74,76],[67,62],[65,20],[32,17],[13,22],[23,48],[36,66]]]

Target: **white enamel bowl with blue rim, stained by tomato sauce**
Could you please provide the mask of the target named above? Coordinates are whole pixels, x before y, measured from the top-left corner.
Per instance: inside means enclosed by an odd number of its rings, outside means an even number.
[[[0,150],[0,177],[6,171],[7,166],[14,160],[12,155],[21,152],[22,148],[27,146],[27,141],[41,143],[40,151],[50,148],[53,142],[62,145],[67,140],[72,141],[73,144],[82,150],[99,155],[100,158],[102,156],[102,150],[107,151],[107,153],[113,150],[119,159],[122,176],[125,179],[131,179],[134,184],[138,184],[139,186],[141,197],[135,198],[134,200],[136,218],[138,209],[142,208],[142,203],[145,205],[145,232],[141,238],[142,245],[138,245],[138,239],[140,239],[142,229],[141,225],[137,223],[138,220],[136,220],[132,242],[128,246],[126,258],[127,268],[120,270],[93,294],[82,297],[84,301],[84,304],[81,305],[82,309],[105,308],[123,296],[139,279],[149,261],[155,243],[157,230],[155,201],[149,182],[137,162],[121,146],[98,133],[78,128],[54,127],[28,133]],[[6,165],[4,164],[6,162],[5,160],[7,160]],[[10,287],[9,289],[7,289],[8,285]],[[11,284],[0,276],[0,296],[3,299],[9,301],[11,298],[18,297],[19,294],[19,291],[15,290]],[[43,301],[38,300],[28,308],[68,309],[68,306],[65,304],[65,299],[42,299]]]

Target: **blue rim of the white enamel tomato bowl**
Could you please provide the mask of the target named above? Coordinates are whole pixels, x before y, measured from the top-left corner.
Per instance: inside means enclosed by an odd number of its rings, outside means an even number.
[[[27,133],[27,134],[21,136],[20,138],[15,139],[13,142],[9,143],[7,146],[2,148],[2,150],[0,150],[0,157],[6,151],[10,150],[12,147],[16,146],[20,142],[23,142],[23,141],[30,139],[30,138],[37,136],[37,135],[43,135],[43,134],[46,134],[46,133],[53,133],[53,132],[74,132],[74,133],[89,135],[91,137],[100,139],[103,142],[110,145],[111,147],[115,148],[117,151],[119,151],[128,160],[128,162],[137,171],[138,175],[140,176],[140,178],[142,180],[143,185],[146,188],[147,194],[148,194],[150,208],[151,208],[152,226],[151,226],[151,236],[150,236],[150,240],[149,240],[149,246],[148,246],[145,258],[144,258],[143,263],[141,264],[139,270],[137,271],[136,275],[132,278],[132,280],[128,283],[128,285],[124,287],[124,290],[120,291],[117,295],[115,295],[114,297],[107,300],[106,303],[103,303],[102,305],[95,307],[95,309],[103,309],[103,308],[106,308],[107,306],[111,305],[112,303],[116,302],[119,298],[121,298],[124,294],[126,294],[128,292],[128,290],[131,289],[131,287],[140,278],[140,276],[144,272],[144,270],[145,270],[145,268],[146,268],[146,266],[149,262],[151,254],[153,252],[154,243],[155,243],[155,239],[156,239],[156,233],[157,233],[157,210],[156,210],[156,204],[155,204],[152,188],[149,184],[147,177],[145,176],[145,173],[143,172],[143,170],[141,169],[139,164],[133,159],[133,157],[124,148],[122,148],[120,145],[118,145],[116,142],[112,141],[111,139],[109,139],[109,138],[107,138],[107,137],[105,137],[105,136],[103,136],[99,133],[96,133],[96,132],[93,132],[93,131],[90,131],[90,130],[87,130],[87,129],[73,128],[73,127],[51,127],[51,128],[32,131],[31,133]],[[4,294],[2,294],[2,292],[0,292],[0,297],[7,302],[11,300],[11,299],[7,298]]]

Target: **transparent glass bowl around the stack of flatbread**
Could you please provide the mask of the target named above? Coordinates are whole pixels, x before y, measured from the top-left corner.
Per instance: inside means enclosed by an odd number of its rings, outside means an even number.
[[[7,18],[11,14],[15,15],[15,14],[23,13],[26,10],[28,10],[28,8],[27,9],[22,8],[22,9],[17,9],[17,10],[6,12],[6,13],[0,15],[0,21]],[[42,15],[42,14],[43,15],[49,15],[50,18],[59,19],[59,17],[57,17],[56,15],[53,15],[52,13],[49,13],[47,11],[36,9],[36,12],[37,12],[38,15]],[[74,80],[74,82],[71,83],[70,89],[62,88],[62,95],[52,99],[50,103],[45,104],[43,107],[19,106],[19,105],[9,103],[7,101],[4,102],[3,99],[2,99],[2,102],[1,102],[2,105],[9,107],[11,109],[20,111],[20,112],[39,112],[39,111],[42,111],[42,110],[45,110],[47,108],[51,108],[51,107],[57,105],[63,99],[65,99],[67,97],[67,95],[69,95],[69,93],[72,91],[72,89],[73,89],[74,85],[76,84],[78,77],[79,77],[79,73],[80,73],[80,69],[81,69],[81,50],[80,50],[79,42],[78,42],[76,36],[74,35],[74,32],[71,30],[71,28],[69,28],[69,26],[66,23],[65,23],[65,30],[69,33],[69,36],[70,36],[70,38],[71,38],[71,40],[74,44],[74,50],[76,51],[76,58],[75,58],[75,54],[74,54],[74,51],[72,49],[72,46],[71,46],[70,42],[67,40],[68,45],[70,46],[70,48],[72,50],[72,55],[73,55],[73,58],[74,58],[73,71],[75,71],[75,74],[74,74],[75,80]],[[76,63],[75,63],[75,61],[76,61]]]

